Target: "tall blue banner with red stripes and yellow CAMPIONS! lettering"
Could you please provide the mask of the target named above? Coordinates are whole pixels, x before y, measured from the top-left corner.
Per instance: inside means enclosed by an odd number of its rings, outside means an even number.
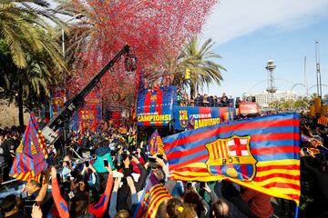
[[[177,88],[165,86],[138,93],[137,121],[142,126],[166,126],[173,118],[173,106],[177,104]]]

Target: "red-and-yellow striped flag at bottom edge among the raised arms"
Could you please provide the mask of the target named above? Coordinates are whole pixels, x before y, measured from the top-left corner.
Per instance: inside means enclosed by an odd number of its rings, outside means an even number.
[[[134,218],[155,218],[158,212],[160,203],[172,198],[164,184],[159,182],[159,179],[154,173],[150,173],[149,180],[142,193],[141,203],[133,214]]]

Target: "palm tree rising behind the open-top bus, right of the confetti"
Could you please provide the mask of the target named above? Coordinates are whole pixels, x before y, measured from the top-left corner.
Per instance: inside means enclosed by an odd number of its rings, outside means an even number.
[[[211,51],[214,43],[212,39],[207,39],[200,45],[197,37],[190,38],[189,44],[176,58],[169,58],[168,69],[174,74],[173,84],[178,87],[190,85],[190,95],[194,95],[195,87],[202,87],[210,83],[220,84],[223,80],[221,71],[226,69],[215,63],[220,55]],[[190,80],[185,79],[186,69],[190,69]]]

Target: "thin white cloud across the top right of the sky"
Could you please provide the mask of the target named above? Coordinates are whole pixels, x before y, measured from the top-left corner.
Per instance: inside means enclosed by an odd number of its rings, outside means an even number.
[[[327,0],[220,0],[204,35],[220,45],[265,27],[282,31],[302,28],[326,15]]]

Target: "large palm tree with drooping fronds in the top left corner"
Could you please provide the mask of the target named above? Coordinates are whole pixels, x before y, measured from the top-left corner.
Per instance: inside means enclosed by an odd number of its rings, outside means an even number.
[[[0,40],[3,50],[8,51],[5,59],[9,62],[1,66],[1,79],[5,80],[1,86],[7,95],[15,96],[21,128],[24,126],[24,95],[48,92],[49,82],[66,73],[66,64],[56,42],[58,33],[48,20],[61,23],[46,10],[47,6],[44,0],[0,3]]]

